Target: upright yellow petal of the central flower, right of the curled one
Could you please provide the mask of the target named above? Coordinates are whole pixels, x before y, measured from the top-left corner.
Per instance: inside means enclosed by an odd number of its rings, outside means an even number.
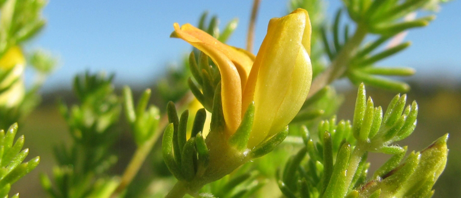
[[[307,97],[312,81],[305,47],[310,49],[307,19],[307,12],[298,9],[269,22],[242,98],[244,108],[251,101],[255,103],[250,148],[288,125]]]

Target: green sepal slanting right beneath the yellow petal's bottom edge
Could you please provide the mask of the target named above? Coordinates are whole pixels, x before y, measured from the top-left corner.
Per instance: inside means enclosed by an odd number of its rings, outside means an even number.
[[[272,136],[272,138],[269,138],[268,140],[254,147],[254,149],[250,151],[250,156],[252,156],[252,158],[256,158],[266,155],[267,153],[274,150],[278,144],[282,143],[284,139],[287,137],[287,135],[288,126],[286,126],[284,130],[276,133],[274,136]]]

